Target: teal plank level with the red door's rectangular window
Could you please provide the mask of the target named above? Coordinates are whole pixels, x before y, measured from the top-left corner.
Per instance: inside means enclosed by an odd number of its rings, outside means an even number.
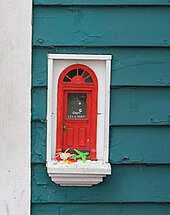
[[[46,120],[46,88],[32,90],[32,119]],[[170,88],[111,90],[111,125],[170,125]]]

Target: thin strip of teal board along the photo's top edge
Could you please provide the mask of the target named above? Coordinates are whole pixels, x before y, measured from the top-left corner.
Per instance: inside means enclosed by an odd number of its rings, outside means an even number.
[[[94,5],[94,6],[100,6],[100,5],[109,5],[109,6],[117,6],[117,5],[170,5],[168,0],[34,0],[34,5]]]

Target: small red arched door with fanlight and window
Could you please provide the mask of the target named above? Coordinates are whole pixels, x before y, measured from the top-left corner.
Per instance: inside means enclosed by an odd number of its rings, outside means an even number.
[[[61,74],[58,84],[57,152],[78,149],[88,151],[89,159],[96,159],[96,83],[94,72],[84,65],[72,65]]]

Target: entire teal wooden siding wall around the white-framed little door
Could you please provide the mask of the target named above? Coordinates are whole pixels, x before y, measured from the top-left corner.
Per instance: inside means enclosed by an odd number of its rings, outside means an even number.
[[[170,3],[34,0],[32,214],[170,214]],[[111,54],[112,175],[60,187],[46,162],[47,54]]]

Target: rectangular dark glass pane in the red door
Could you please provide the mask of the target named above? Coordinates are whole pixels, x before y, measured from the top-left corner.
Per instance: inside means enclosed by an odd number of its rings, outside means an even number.
[[[87,111],[86,93],[68,93],[67,97],[67,118],[85,119]]]

